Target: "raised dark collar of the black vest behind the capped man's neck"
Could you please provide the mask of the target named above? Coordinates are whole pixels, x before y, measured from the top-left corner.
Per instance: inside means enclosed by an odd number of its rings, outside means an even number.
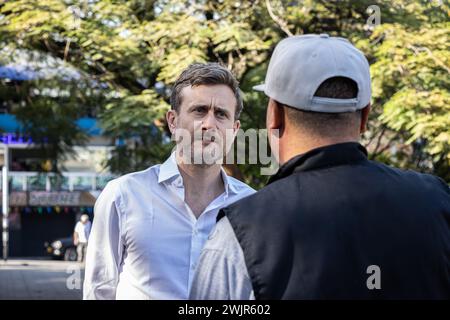
[[[334,167],[367,160],[367,150],[357,142],[344,142],[310,150],[290,159],[270,177],[270,184],[294,172]]]

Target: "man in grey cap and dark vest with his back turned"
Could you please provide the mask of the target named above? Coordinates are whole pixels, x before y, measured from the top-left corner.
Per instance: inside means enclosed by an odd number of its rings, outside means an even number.
[[[364,55],[343,38],[289,37],[255,89],[281,167],[221,210],[190,297],[449,299],[449,187],[368,160]]]

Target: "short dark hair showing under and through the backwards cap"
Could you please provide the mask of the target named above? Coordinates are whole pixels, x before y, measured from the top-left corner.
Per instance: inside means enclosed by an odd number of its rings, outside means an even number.
[[[333,77],[325,80],[314,96],[335,99],[352,99],[358,95],[355,81],[345,77]],[[294,126],[317,135],[336,135],[339,131],[351,127],[355,120],[361,119],[361,110],[344,113],[325,113],[303,111],[282,105],[287,118]]]

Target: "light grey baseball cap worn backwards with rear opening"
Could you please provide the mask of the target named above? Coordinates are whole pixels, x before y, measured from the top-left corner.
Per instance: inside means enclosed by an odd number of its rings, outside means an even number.
[[[353,99],[315,97],[327,79],[356,82]],[[275,47],[264,84],[253,87],[293,108],[314,112],[353,112],[370,102],[370,69],[364,54],[347,39],[309,34],[283,39]]]

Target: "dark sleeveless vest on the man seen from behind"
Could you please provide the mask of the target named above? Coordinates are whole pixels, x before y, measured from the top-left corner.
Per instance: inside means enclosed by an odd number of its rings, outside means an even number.
[[[450,299],[449,187],[358,143],[291,159],[223,214],[256,299]]]

